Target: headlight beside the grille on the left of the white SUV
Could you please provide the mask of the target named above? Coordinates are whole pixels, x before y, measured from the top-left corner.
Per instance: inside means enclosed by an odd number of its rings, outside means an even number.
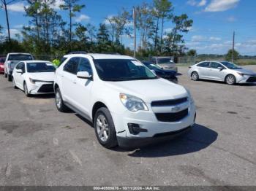
[[[140,98],[124,93],[120,93],[119,97],[121,103],[131,112],[137,112],[138,110],[148,111],[145,102]]]

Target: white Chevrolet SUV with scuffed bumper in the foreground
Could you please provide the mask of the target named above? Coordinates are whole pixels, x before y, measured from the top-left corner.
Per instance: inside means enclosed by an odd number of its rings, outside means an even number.
[[[170,139],[195,123],[195,104],[181,85],[157,77],[125,55],[72,54],[56,69],[60,112],[68,108],[94,124],[104,147],[139,147]]]

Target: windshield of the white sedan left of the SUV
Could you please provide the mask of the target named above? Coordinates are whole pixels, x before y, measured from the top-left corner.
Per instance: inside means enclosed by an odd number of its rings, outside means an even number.
[[[28,72],[53,72],[56,68],[52,63],[27,63]]]

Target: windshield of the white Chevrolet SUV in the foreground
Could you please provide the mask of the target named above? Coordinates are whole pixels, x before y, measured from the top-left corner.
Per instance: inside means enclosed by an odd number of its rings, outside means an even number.
[[[157,79],[157,76],[139,61],[128,59],[96,59],[94,63],[99,78],[104,81]]]

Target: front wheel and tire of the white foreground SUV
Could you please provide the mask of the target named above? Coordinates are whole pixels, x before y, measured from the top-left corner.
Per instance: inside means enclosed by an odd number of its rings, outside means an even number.
[[[115,125],[107,108],[99,108],[95,113],[94,130],[99,143],[103,147],[110,149],[118,145]]]

